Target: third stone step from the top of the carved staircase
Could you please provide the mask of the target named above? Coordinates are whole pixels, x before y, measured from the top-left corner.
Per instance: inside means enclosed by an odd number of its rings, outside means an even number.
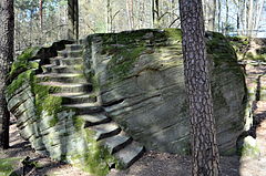
[[[76,65],[76,64],[83,64],[82,58],[61,58],[57,56],[53,59],[50,59],[51,64],[54,65]]]

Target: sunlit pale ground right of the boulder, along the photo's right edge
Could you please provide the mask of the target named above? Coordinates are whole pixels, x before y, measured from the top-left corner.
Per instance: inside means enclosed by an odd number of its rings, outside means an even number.
[[[255,100],[253,102],[253,127],[249,131],[256,139],[259,154],[253,157],[242,157],[239,175],[241,176],[266,176],[266,64],[253,62],[246,66],[247,87],[255,90]],[[265,97],[264,97],[265,96]]]

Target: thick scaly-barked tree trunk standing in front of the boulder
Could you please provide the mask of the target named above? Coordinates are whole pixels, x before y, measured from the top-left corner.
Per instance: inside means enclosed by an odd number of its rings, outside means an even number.
[[[186,93],[192,126],[192,175],[218,176],[219,156],[213,117],[202,0],[180,0]]]

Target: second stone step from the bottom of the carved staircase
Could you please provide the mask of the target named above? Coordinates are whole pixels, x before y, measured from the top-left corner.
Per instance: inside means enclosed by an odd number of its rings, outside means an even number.
[[[126,136],[124,132],[121,132],[115,136],[104,138],[100,142],[109,148],[111,154],[114,154],[129,145],[132,142],[132,138]]]

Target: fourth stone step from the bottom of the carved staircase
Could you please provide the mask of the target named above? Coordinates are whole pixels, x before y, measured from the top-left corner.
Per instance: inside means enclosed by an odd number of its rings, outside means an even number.
[[[81,117],[82,120],[85,121],[84,127],[100,125],[100,124],[108,123],[111,121],[111,118],[108,117],[104,113],[79,115],[79,117]]]

